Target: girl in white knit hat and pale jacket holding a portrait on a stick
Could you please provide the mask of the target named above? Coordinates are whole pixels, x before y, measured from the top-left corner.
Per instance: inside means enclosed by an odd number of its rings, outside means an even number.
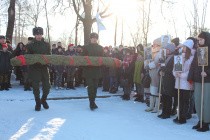
[[[193,49],[193,41],[186,40],[183,43],[183,71],[182,72],[175,72],[173,70],[173,75],[175,77],[175,89],[180,89],[180,108],[179,108],[179,116],[173,121],[177,124],[184,124],[186,123],[186,115],[189,108],[189,100],[190,100],[190,91],[193,89],[193,84],[187,81],[188,73],[191,67],[192,60],[194,55],[192,54]],[[180,83],[180,84],[179,84]]]

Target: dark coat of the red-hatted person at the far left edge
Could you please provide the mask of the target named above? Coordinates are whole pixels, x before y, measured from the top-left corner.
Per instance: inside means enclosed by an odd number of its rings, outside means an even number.
[[[11,70],[10,64],[11,53],[0,50],[0,74],[8,74]]]

